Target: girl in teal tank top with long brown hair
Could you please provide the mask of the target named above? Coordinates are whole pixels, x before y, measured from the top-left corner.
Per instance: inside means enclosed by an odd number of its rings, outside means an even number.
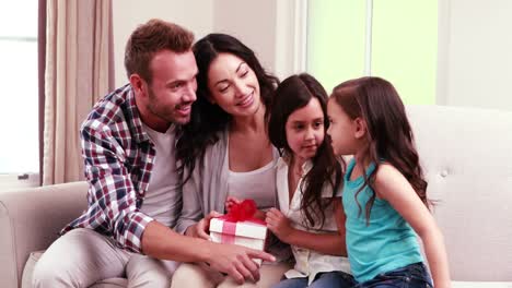
[[[404,104],[379,77],[347,81],[327,105],[336,155],[353,155],[342,191],[347,250],[356,287],[450,287],[443,237],[427,200]]]

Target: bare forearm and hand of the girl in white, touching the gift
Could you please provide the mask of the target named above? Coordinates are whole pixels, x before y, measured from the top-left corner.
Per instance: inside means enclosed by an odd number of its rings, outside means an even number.
[[[347,256],[345,243],[345,213],[341,206],[341,199],[334,200],[335,217],[338,232],[312,233],[295,229],[290,220],[278,209],[271,208],[267,212],[267,227],[283,242],[311,249],[324,254]]]

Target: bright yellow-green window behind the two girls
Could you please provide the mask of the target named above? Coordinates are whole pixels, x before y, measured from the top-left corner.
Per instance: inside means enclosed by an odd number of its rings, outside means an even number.
[[[365,74],[405,104],[434,104],[438,1],[309,1],[307,71],[330,92]]]

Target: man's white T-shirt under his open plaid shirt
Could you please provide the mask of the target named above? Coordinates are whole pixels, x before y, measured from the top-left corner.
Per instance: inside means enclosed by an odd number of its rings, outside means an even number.
[[[148,192],[140,211],[167,227],[174,227],[182,201],[174,157],[175,125],[171,125],[165,133],[154,131],[143,123],[142,127],[156,152]]]

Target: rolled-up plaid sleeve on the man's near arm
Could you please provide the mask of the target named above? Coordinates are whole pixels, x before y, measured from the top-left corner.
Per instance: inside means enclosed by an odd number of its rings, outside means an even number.
[[[125,149],[97,120],[82,125],[81,140],[90,206],[95,207],[89,225],[105,228],[120,247],[141,253],[142,233],[153,218],[137,209],[137,191],[124,165]]]

